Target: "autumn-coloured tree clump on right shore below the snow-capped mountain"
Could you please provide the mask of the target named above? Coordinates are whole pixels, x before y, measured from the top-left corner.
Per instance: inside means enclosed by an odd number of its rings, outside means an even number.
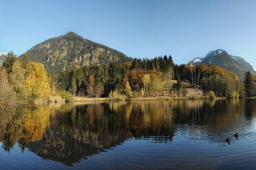
[[[191,63],[186,69],[184,68],[184,66],[180,66],[181,74],[190,77],[194,88],[202,89],[204,95],[209,95],[210,92],[217,97],[226,98],[237,98],[243,95],[239,78],[228,69],[222,69],[215,64],[206,66],[205,64],[193,65]]]

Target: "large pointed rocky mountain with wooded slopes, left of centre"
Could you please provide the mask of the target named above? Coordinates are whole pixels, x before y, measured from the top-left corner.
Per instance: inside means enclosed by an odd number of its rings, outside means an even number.
[[[47,71],[56,74],[76,66],[132,60],[119,51],[87,40],[74,32],[45,40],[27,52],[31,61],[41,62]]]

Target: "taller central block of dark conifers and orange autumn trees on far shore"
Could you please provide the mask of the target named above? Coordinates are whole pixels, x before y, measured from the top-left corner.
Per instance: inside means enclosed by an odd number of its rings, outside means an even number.
[[[173,79],[173,60],[154,58],[118,64],[111,62],[102,66],[83,66],[65,71],[59,77],[60,89],[69,90],[79,96],[127,97],[159,96],[163,89],[171,92]]]

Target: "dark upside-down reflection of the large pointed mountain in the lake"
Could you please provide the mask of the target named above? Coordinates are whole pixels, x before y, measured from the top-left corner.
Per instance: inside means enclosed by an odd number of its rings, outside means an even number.
[[[127,139],[125,135],[83,132],[71,127],[52,125],[40,141],[28,143],[27,148],[44,159],[72,165],[81,158],[99,154],[104,149],[120,145]]]

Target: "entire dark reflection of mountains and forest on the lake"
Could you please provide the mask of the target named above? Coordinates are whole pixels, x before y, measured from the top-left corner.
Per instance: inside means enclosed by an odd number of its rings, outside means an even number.
[[[0,141],[6,151],[18,143],[21,151],[72,166],[129,138],[171,143],[182,135],[225,143],[235,132],[250,135],[255,115],[255,100],[4,106]]]

